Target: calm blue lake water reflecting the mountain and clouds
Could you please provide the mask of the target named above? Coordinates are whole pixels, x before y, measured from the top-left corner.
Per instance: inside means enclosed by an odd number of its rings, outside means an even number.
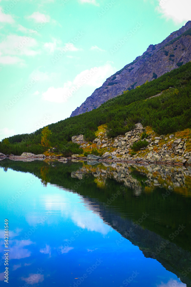
[[[191,286],[191,167],[0,161],[1,285]]]

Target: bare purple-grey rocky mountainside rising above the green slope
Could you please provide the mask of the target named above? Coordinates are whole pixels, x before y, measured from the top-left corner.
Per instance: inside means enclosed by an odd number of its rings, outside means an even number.
[[[107,100],[134,89],[191,61],[191,21],[157,45],[150,45],[142,56],[109,77],[70,117],[98,108]]]

